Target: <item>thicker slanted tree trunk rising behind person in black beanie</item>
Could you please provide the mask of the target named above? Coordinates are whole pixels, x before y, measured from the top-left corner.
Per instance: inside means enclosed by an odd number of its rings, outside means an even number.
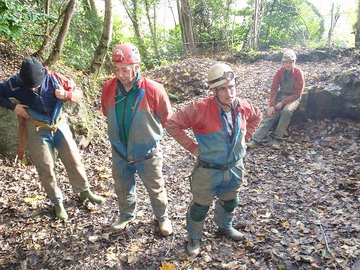
[[[65,43],[66,35],[68,34],[68,30],[70,27],[72,13],[74,13],[76,4],[77,0],[70,0],[68,7],[65,10],[63,25],[61,25],[58,38],[56,39],[56,42],[53,46],[53,51],[51,51],[49,58],[45,61],[45,65],[48,65],[49,67],[56,63],[56,61],[58,61],[60,57],[61,50],[63,49],[63,45]]]

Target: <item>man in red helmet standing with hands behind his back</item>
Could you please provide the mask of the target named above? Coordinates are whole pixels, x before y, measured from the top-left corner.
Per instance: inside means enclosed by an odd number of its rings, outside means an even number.
[[[115,77],[103,85],[101,108],[108,118],[113,148],[113,179],[120,218],[110,226],[119,231],[135,218],[138,172],[150,197],[160,232],[172,233],[167,214],[167,193],[162,178],[162,128],[172,115],[161,84],[140,73],[140,53],[133,44],[117,45],[113,52]]]

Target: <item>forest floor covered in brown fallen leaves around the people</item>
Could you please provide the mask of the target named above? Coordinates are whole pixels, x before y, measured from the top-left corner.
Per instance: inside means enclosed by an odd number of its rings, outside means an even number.
[[[172,80],[171,91],[181,98],[173,103],[177,111],[210,95],[201,86],[212,63],[209,58],[192,58],[148,75],[165,85]],[[279,65],[266,60],[233,64],[240,78],[238,95],[265,113],[269,85]],[[319,83],[322,75],[350,65],[359,62],[335,58],[298,63],[307,75],[307,87]],[[0,75],[4,67],[0,66]],[[14,68],[13,73],[16,71]],[[9,73],[7,70],[6,75]],[[179,82],[184,77],[189,80],[178,85],[176,76]],[[99,109],[94,108],[101,115]],[[359,123],[338,118],[293,124],[281,150],[271,149],[272,134],[266,136],[262,146],[249,150],[245,157],[246,181],[233,220],[245,239],[236,242],[221,236],[211,208],[202,249],[195,258],[186,254],[185,229],[191,201],[188,176],[195,158],[165,133],[161,145],[174,226],[171,236],[160,235],[139,178],[136,219],[113,233],[108,228],[118,217],[118,207],[105,130],[101,116],[98,136],[81,150],[91,186],[107,198],[103,205],[80,202],[72,193],[63,164],[57,162],[68,221],[55,219],[33,165],[0,156],[0,268],[360,269]]]

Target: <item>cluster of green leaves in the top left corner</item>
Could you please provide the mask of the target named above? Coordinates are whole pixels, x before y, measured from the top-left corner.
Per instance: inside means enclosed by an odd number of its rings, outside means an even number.
[[[0,0],[0,37],[5,39],[20,39],[25,32],[36,29],[39,23],[53,19],[53,16],[32,8],[28,1]],[[34,30],[33,33],[38,32]]]

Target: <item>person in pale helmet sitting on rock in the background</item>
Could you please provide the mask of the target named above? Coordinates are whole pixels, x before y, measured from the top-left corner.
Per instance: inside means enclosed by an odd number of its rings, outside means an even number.
[[[267,117],[251,141],[248,148],[256,148],[264,139],[276,120],[278,126],[275,130],[275,139],[272,148],[280,149],[281,141],[290,123],[291,116],[300,104],[300,99],[305,86],[304,73],[295,66],[296,55],[292,50],[283,54],[283,67],[276,72],[270,89],[270,105],[267,109]]]

